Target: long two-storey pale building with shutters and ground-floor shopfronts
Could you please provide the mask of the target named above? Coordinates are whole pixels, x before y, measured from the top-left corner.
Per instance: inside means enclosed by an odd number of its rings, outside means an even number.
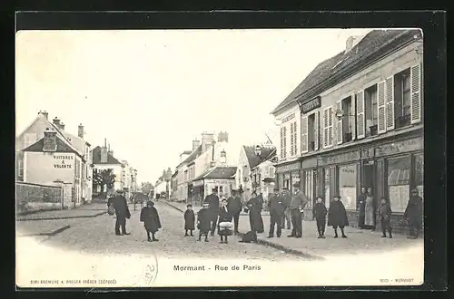
[[[320,63],[272,112],[281,121],[280,186],[299,169],[306,195],[327,206],[341,195],[352,225],[360,188],[370,187],[376,207],[389,198],[402,217],[410,189],[424,193],[421,52],[419,30],[373,30]],[[300,168],[289,166],[294,159]]]

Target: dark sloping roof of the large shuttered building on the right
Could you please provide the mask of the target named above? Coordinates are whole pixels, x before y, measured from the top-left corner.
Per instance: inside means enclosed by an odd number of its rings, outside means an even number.
[[[410,33],[410,30],[373,30],[366,34],[348,53],[341,53],[332,56],[331,58],[319,63],[312,72],[291,92],[284,101],[282,101],[271,114],[280,111],[282,108],[298,100],[306,92],[319,86],[322,82],[331,80],[335,74],[345,72],[353,64],[363,61],[373,53],[378,53],[379,50],[390,42],[395,41],[401,35]],[[419,31],[415,31],[419,32]]]

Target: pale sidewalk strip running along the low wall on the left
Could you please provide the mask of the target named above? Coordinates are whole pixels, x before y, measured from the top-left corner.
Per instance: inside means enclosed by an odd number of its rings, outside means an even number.
[[[17,215],[16,221],[31,221],[31,220],[53,220],[53,219],[68,219],[68,218],[85,218],[96,217],[107,213],[106,204],[95,203],[86,204],[74,209],[58,209],[51,211],[36,212],[27,215]]]

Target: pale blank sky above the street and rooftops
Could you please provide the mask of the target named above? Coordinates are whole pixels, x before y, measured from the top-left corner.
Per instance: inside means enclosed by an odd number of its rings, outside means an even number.
[[[202,131],[242,145],[279,138],[271,111],[323,60],[370,29],[21,31],[16,135],[48,111],[84,125],[117,159],[156,181]]]

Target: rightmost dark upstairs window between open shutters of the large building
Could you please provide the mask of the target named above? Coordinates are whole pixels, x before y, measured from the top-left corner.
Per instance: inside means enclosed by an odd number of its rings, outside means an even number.
[[[394,117],[396,128],[410,124],[410,68],[394,76]]]

